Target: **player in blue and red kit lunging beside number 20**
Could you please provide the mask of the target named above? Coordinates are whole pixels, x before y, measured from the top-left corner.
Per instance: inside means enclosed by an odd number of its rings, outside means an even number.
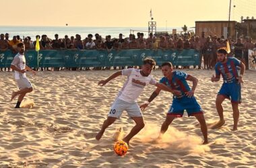
[[[174,120],[174,118],[182,117],[184,110],[186,110],[188,116],[195,116],[195,118],[197,118],[199,121],[201,132],[203,133],[203,144],[207,144],[207,126],[203,116],[203,110],[201,110],[201,107],[194,97],[195,88],[197,87],[198,82],[197,78],[187,75],[187,73],[183,73],[181,71],[172,71],[172,64],[170,62],[164,62],[162,64],[162,73],[164,77],[160,79],[160,83],[167,85],[171,89],[180,91],[180,93],[178,92],[179,95],[173,95],[172,105],[170,106],[170,110],[167,112],[166,120],[162,124],[160,130],[160,137],[162,134],[164,134],[164,132],[166,132],[168,126],[172,123],[172,120]],[[190,89],[187,81],[193,82],[192,89]],[[161,89],[158,87],[152,93],[148,101],[141,104],[141,110],[144,110],[148,104],[160,93],[160,91]]]

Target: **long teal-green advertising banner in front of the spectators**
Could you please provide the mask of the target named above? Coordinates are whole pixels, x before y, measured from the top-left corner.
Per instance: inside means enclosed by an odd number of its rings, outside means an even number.
[[[10,67],[15,54],[0,52],[0,67]],[[144,58],[153,58],[156,65],[200,65],[197,50],[27,50],[29,67],[118,67],[141,65]]]

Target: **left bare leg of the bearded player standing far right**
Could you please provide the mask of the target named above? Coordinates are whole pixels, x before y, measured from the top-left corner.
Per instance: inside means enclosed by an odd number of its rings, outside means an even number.
[[[214,126],[212,126],[213,129],[215,128],[220,128],[221,126],[223,126],[225,124],[225,120],[223,117],[223,108],[222,108],[222,102],[224,101],[225,97],[223,95],[217,95],[216,97],[216,109],[218,112],[218,115],[220,117],[220,121],[215,124]]]

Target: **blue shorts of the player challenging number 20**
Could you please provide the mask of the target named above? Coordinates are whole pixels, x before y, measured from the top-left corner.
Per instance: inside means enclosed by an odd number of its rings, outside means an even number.
[[[181,98],[173,99],[172,106],[170,106],[170,110],[168,111],[167,115],[182,117],[184,110],[187,111],[188,116],[203,114],[203,110],[201,109],[199,103],[197,103],[197,100],[194,96],[190,98],[183,96]]]

